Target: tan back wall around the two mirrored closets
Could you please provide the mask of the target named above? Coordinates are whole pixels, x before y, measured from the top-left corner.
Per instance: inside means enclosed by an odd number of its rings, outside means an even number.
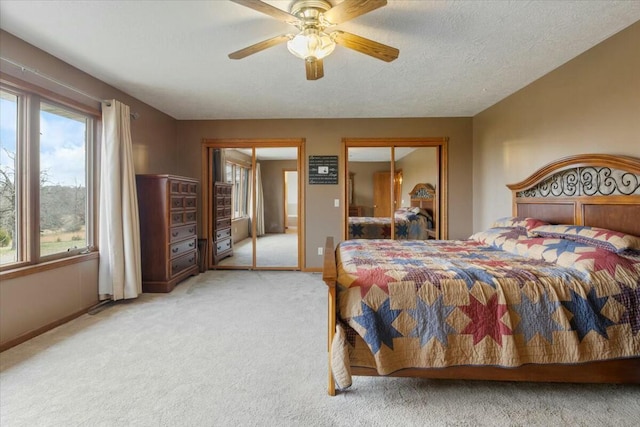
[[[275,107],[274,107],[275,108]],[[305,138],[306,156],[340,155],[342,138],[449,137],[449,237],[466,238],[472,229],[472,128],[471,118],[413,119],[300,119],[300,120],[184,120],[178,122],[179,171],[200,175],[203,138]],[[340,159],[340,176],[343,172]],[[305,159],[305,173],[308,158]],[[305,177],[303,207],[306,230],[306,268],[318,269],[317,248],[327,235],[340,240],[344,183],[308,185]],[[342,200],[344,203],[344,200]]]

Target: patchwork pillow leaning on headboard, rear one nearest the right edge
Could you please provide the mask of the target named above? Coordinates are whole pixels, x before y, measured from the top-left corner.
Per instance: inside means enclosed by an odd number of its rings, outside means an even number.
[[[605,228],[580,225],[541,225],[529,230],[531,234],[552,239],[568,239],[611,252],[640,250],[640,237]]]

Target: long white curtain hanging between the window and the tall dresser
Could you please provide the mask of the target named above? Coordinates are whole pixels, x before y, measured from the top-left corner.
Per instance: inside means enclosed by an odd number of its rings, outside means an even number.
[[[102,104],[99,215],[100,299],[136,298],[142,268],[131,119],[129,106],[116,100]]]

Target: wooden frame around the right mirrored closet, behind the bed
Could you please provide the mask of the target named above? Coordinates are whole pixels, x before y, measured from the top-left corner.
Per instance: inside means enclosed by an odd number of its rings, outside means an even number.
[[[349,148],[359,147],[371,147],[371,148],[391,148],[391,160],[389,165],[389,170],[391,172],[391,176],[394,176],[395,173],[395,149],[402,147],[415,147],[415,148],[424,148],[424,147],[435,147],[437,148],[437,157],[438,157],[438,181],[436,183],[437,191],[436,191],[436,204],[438,207],[438,218],[436,218],[436,230],[438,233],[438,238],[445,240],[449,236],[449,225],[448,225],[448,151],[447,145],[449,143],[448,137],[426,137],[426,138],[342,138],[342,159],[343,159],[343,167],[342,174],[343,179],[343,188],[342,194],[344,195],[345,206],[343,212],[343,221],[342,221],[342,235],[343,239],[348,238],[348,227],[349,227],[349,188],[346,184],[349,180]],[[395,194],[393,191],[393,185],[391,185],[391,200],[395,200]],[[393,214],[390,212],[390,214]],[[393,218],[393,216],[392,216]],[[391,221],[391,235],[395,236],[395,224],[394,221]]]

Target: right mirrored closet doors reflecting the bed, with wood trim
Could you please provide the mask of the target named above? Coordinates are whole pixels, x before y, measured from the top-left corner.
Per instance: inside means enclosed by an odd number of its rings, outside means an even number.
[[[446,138],[343,141],[345,238],[446,239]]]

